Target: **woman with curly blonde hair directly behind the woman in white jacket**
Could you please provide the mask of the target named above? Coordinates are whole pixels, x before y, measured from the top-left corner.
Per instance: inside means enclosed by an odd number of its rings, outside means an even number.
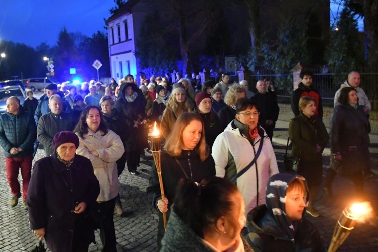
[[[224,96],[224,103],[228,106],[222,108],[218,112],[218,118],[222,130],[226,129],[227,125],[235,119],[236,103],[240,98],[246,98],[247,94],[245,88],[239,84],[233,84]]]

